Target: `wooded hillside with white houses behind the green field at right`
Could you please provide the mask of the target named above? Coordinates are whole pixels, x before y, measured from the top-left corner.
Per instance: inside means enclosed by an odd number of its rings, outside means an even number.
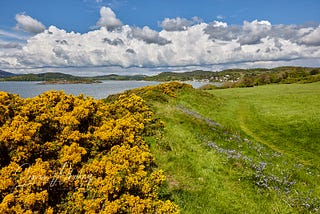
[[[228,87],[247,87],[270,83],[294,83],[320,81],[320,68],[308,67],[277,67],[252,69],[227,69],[219,72],[196,70],[175,73],[162,72],[146,77],[153,81],[208,81],[226,83]]]

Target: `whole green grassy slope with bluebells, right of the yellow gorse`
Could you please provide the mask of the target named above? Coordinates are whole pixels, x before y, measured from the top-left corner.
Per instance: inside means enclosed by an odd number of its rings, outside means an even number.
[[[177,99],[153,101],[165,128],[147,141],[168,176],[163,197],[183,213],[316,212],[319,89],[184,89]]]

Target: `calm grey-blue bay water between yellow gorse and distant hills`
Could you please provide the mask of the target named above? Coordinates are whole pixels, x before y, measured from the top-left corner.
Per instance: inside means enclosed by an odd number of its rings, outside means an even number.
[[[94,84],[50,84],[41,85],[39,82],[0,82],[0,91],[18,94],[20,97],[35,97],[49,90],[63,90],[66,94],[91,96],[96,99],[105,98],[108,95],[123,92],[125,90],[147,85],[156,85],[159,82],[145,81],[102,81]],[[193,87],[199,87],[203,83],[189,82]]]

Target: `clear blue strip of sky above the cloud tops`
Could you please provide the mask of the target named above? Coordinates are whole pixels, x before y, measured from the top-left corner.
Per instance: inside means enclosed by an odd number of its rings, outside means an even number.
[[[87,32],[99,19],[102,6],[110,7],[124,24],[158,29],[164,18],[194,16],[205,22],[269,20],[272,24],[320,22],[319,0],[1,0],[0,25],[15,26],[15,15],[25,13],[44,25]]]

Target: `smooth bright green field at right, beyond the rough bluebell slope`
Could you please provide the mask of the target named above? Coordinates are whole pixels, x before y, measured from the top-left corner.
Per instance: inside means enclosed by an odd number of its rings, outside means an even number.
[[[320,82],[210,91],[224,104],[213,118],[282,154],[320,167]],[[230,119],[231,118],[231,119]]]

